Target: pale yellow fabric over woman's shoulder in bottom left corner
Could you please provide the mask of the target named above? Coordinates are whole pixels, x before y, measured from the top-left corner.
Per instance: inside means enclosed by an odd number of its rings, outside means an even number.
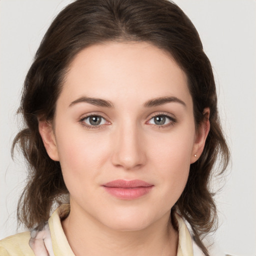
[[[28,241],[30,232],[17,233],[0,240],[1,256],[34,256]]]

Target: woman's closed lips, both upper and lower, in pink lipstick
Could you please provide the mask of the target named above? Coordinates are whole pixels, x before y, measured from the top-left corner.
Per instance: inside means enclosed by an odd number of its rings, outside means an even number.
[[[111,195],[126,200],[136,199],[147,194],[153,187],[143,180],[116,179],[102,185]]]

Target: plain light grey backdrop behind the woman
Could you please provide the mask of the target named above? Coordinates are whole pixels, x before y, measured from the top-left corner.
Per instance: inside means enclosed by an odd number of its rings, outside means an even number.
[[[16,229],[24,186],[22,156],[10,156],[25,74],[53,17],[71,0],[0,0],[0,239]],[[175,0],[197,28],[211,60],[232,165],[216,196],[216,244],[256,255],[256,1]],[[215,182],[219,186],[219,180]]]

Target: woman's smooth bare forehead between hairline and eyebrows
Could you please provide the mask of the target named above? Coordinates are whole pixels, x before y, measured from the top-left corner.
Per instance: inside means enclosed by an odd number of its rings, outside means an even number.
[[[70,63],[61,94],[70,102],[84,94],[141,104],[157,96],[191,100],[183,70],[169,54],[146,42],[107,42],[82,49]]]

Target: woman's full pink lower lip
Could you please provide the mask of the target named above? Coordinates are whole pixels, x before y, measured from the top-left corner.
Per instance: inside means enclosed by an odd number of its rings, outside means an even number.
[[[139,187],[111,187],[104,186],[105,190],[111,195],[126,200],[139,198],[147,194],[153,186],[139,186]]]

